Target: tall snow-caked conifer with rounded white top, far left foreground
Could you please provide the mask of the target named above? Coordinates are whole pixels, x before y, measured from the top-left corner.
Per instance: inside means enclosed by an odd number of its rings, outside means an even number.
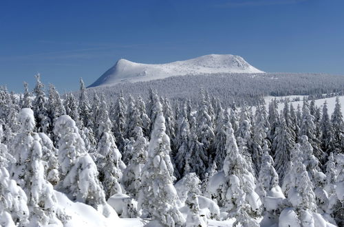
[[[34,113],[32,109],[23,108],[19,112],[20,133],[14,138],[11,148],[17,160],[12,165],[12,176],[23,188],[28,197],[30,224],[44,226],[61,223],[56,216],[56,197],[52,184],[45,180],[42,140],[34,133]]]

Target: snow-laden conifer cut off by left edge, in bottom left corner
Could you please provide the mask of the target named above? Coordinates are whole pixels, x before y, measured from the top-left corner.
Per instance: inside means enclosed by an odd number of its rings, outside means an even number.
[[[27,196],[21,187],[11,179],[8,164],[16,162],[0,143],[0,226],[27,226],[29,208]]]

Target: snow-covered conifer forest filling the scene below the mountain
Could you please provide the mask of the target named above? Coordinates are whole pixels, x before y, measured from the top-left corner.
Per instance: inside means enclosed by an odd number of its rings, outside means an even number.
[[[342,94],[336,80],[294,91]],[[332,113],[312,98],[279,112],[277,100],[264,105],[269,88],[246,89],[240,107],[230,89],[227,101],[208,87],[184,99],[135,90],[109,96],[80,80],[60,96],[39,76],[32,91],[0,89],[1,226],[87,226],[63,204],[113,226],[344,226],[338,98]]]

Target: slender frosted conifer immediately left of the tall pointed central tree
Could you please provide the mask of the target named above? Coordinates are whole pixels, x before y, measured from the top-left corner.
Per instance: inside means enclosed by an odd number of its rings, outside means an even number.
[[[129,165],[123,172],[122,184],[128,193],[137,198],[141,187],[142,169],[147,162],[148,141],[143,136],[141,127],[136,127],[134,130],[136,132],[136,140],[133,144],[133,155]]]

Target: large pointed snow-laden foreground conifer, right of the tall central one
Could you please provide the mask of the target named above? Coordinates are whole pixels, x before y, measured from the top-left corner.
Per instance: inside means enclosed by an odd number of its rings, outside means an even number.
[[[255,193],[255,177],[248,171],[248,163],[239,152],[234,131],[230,128],[227,133],[227,156],[224,161],[226,183],[222,198],[228,217],[235,217],[243,226],[259,226],[255,217],[259,216],[261,205],[259,196]]]

